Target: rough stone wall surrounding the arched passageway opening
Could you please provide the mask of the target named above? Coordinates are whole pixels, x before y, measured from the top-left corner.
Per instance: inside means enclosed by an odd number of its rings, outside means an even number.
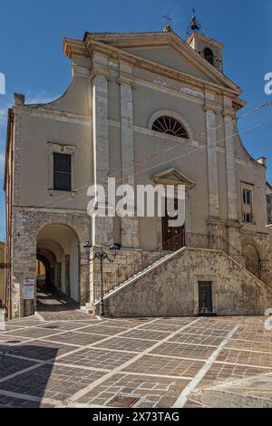
[[[24,301],[24,278],[36,278],[37,237],[48,225],[62,224],[73,230],[77,237],[79,256],[80,305],[90,299],[90,276],[88,261],[83,249],[84,243],[92,239],[91,218],[81,212],[37,208],[21,208],[15,212],[13,238],[14,263],[13,282],[15,288],[15,310],[19,316],[34,315],[35,302]],[[53,250],[54,251],[54,250]]]

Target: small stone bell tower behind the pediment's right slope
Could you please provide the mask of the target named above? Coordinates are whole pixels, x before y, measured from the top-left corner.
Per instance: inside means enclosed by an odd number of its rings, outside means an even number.
[[[220,73],[223,73],[222,53],[224,44],[209,38],[203,33],[201,24],[199,24],[193,9],[193,15],[187,31],[187,43],[197,53],[213,65]]]

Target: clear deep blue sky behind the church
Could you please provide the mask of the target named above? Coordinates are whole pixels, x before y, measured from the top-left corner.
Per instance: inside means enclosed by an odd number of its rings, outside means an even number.
[[[0,95],[0,185],[3,188],[5,111],[13,93],[26,102],[46,102],[63,93],[70,80],[70,63],[62,52],[63,37],[82,38],[89,32],[161,31],[163,15],[173,18],[173,30],[185,38],[195,7],[205,34],[226,44],[224,72],[244,91],[248,111],[272,102],[264,92],[264,75],[272,73],[272,4],[270,0],[2,0],[0,5],[0,73],[6,94]],[[242,112],[240,112],[242,113]],[[272,120],[272,106],[239,121],[239,129]],[[242,134],[255,158],[268,160],[272,181],[272,122]],[[31,188],[29,189],[31,190]],[[5,195],[0,192],[0,239],[5,238]]]

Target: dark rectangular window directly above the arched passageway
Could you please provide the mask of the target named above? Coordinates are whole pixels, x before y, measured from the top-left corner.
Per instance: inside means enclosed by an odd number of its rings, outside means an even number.
[[[72,190],[72,160],[70,154],[53,153],[53,189]]]

